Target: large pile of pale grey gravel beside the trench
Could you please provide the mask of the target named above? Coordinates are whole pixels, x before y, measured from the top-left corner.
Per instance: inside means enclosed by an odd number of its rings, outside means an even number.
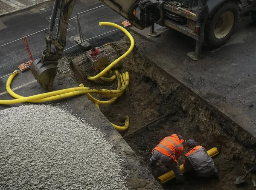
[[[103,134],[51,105],[0,111],[0,189],[127,190]]]

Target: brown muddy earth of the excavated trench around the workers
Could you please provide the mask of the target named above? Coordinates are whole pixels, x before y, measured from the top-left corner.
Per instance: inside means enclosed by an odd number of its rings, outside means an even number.
[[[129,47],[128,39],[122,39],[112,43],[117,54],[122,55]],[[111,49],[111,48],[110,48]],[[112,51],[108,48],[105,51]],[[83,55],[77,55],[83,59]],[[76,56],[76,57],[77,57]],[[114,59],[115,56],[112,57]],[[71,62],[74,57],[66,57],[65,62]],[[60,62],[61,66],[61,62]],[[68,70],[67,73],[59,73],[58,77],[72,76],[77,82],[84,86],[93,88],[116,89],[116,81],[90,82],[85,79],[86,75],[93,76],[96,72],[89,69],[84,73],[76,74]],[[166,136],[177,133],[184,139],[195,139],[198,145],[207,150],[217,147],[219,154],[214,157],[215,164],[220,172],[220,179],[199,179],[192,171],[184,174],[186,183],[176,185],[175,180],[164,184],[167,190],[253,190],[256,189],[253,181],[256,181],[253,171],[247,178],[246,183],[241,186],[233,184],[237,176],[241,176],[255,164],[256,140],[246,131],[208,105],[207,102],[198,98],[186,87],[181,85],[161,68],[147,60],[146,57],[136,51],[120,62],[116,69],[119,72],[128,71],[130,74],[129,92],[119,97],[112,105],[100,106],[102,113],[116,125],[123,125],[124,119],[118,114],[128,115],[130,125],[128,130],[120,132],[122,136],[142,127],[143,125],[171,113],[165,119],[140,130],[125,140],[140,157],[141,162],[150,168],[149,158],[151,150]],[[63,71],[63,70],[62,70]],[[84,76],[82,76],[84,75]],[[95,96],[101,98],[99,96]],[[102,99],[105,100],[105,99]],[[187,152],[184,146],[183,154]],[[183,163],[183,156],[179,159]],[[158,176],[169,171],[163,164],[150,168],[151,173]]]

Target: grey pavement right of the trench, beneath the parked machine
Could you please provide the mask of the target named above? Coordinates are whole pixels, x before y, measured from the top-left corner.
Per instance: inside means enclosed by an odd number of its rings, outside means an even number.
[[[256,137],[255,29],[250,17],[244,18],[225,45],[204,51],[204,58],[198,61],[186,55],[195,51],[195,41],[172,29],[158,38],[149,37],[151,40],[145,40],[148,36],[141,31],[144,37],[135,36],[135,44],[191,92]]]

